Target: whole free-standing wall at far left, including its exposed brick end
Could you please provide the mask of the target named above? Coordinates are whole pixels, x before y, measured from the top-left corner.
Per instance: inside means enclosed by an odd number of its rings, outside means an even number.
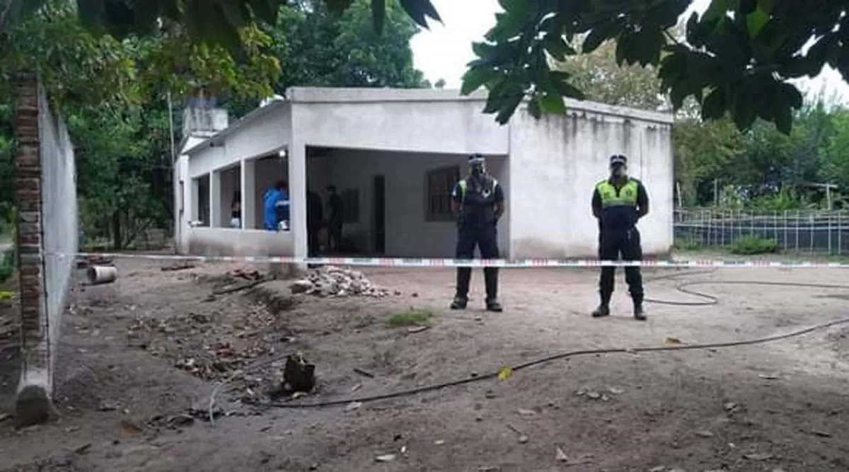
[[[78,250],[74,151],[36,76],[20,76],[15,103],[22,368],[19,424],[53,413],[53,365]]]

